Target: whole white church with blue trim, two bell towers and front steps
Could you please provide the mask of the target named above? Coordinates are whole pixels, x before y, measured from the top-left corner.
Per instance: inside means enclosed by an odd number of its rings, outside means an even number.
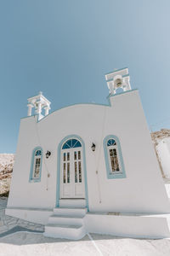
[[[170,236],[170,202],[139,91],[127,68],[105,79],[106,105],[48,113],[42,93],[28,99],[6,214],[43,224],[44,236],[56,238]]]

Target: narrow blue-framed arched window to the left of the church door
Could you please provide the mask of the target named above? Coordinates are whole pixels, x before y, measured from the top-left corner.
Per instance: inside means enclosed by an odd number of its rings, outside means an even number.
[[[42,148],[33,149],[31,157],[30,182],[40,182],[42,172]]]

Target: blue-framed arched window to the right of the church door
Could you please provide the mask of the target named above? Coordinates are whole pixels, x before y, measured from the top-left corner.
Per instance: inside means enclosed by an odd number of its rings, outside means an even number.
[[[104,139],[105,167],[108,178],[126,177],[122,150],[118,137],[109,135]]]

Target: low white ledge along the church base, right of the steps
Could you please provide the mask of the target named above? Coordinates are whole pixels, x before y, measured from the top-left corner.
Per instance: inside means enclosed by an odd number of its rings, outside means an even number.
[[[168,222],[169,216],[115,216],[88,213],[85,217],[86,229],[90,233],[151,239],[169,237]]]

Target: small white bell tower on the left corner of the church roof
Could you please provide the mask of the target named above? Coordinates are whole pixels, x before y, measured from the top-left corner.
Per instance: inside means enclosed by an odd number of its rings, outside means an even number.
[[[46,97],[42,96],[42,91],[39,92],[37,96],[28,98],[28,116],[32,114],[32,108],[35,110],[35,114],[38,115],[38,120],[42,119],[44,115],[48,115],[51,102],[46,99]],[[44,109],[44,115],[42,114],[42,110]]]

